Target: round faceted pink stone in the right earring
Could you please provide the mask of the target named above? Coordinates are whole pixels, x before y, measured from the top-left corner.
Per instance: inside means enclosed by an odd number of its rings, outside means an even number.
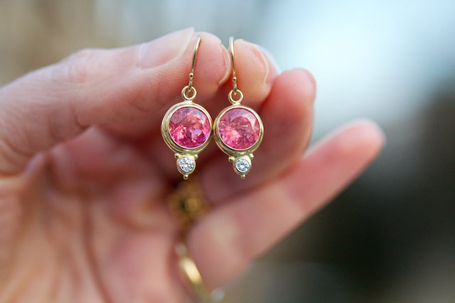
[[[259,121],[247,109],[230,109],[220,118],[218,132],[230,148],[245,150],[259,138]]]

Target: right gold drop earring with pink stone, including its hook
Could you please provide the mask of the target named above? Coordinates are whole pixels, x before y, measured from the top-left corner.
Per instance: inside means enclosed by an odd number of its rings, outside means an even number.
[[[229,155],[234,171],[245,179],[245,175],[251,169],[253,152],[259,147],[264,136],[264,125],[256,111],[240,105],[243,93],[237,89],[233,37],[229,38],[229,48],[233,89],[229,92],[228,98],[232,105],[218,114],[213,132],[215,143]]]

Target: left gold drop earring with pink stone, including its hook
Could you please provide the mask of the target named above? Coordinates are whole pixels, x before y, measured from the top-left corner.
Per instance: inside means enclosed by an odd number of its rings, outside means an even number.
[[[193,87],[193,77],[199,44],[200,36],[194,46],[189,83],[182,89],[183,101],[173,105],[166,112],[161,123],[161,135],[175,153],[177,169],[185,180],[196,168],[198,153],[208,145],[212,136],[210,114],[203,106],[193,103],[197,94],[196,88]]]

